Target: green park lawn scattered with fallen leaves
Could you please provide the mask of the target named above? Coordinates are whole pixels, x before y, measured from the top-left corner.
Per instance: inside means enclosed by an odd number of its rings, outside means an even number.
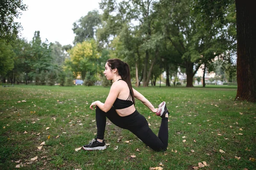
[[[256,104],[234,100],[232,88],[136,88],[155,107],[166,101],[168,150],[155,152],[128,130],[107,122],[107,150],[76,151],[95,137],[95,112],[89,106],[95,100],[104,102],[109,89],[0,88],[0,169],[193,170],[203,161],[209,166],[199,170],[256,169]],[[136,108],[157,134],[160,117],[138,100]]]

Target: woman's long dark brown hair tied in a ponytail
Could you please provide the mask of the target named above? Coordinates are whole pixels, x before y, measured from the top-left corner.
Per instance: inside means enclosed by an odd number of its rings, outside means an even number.
[[[107,62],[112,70],[115,68],[117,69],[118,74],[121,76],[122,80],[124,80],[127,83],[130,89],[132,101],[135,105],[134,93],[131,86],[131,75],[129,65],[126,62],[121,61],[120,59],[108,59]]]

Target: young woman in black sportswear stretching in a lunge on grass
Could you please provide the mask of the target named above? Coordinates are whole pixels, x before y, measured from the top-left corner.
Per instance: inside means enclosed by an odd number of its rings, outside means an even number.
[[[106,117],[118,127],[128,129],[142,142],[155,151],[166,150],[168,145],[168,116],[166,102],[154,106],[131,86],[130,68],[120,59],[109,59],[105,65],[105,77],[113,80],[105,103],[92,102],[90,109],[96,108],[97,137],[83,146],[84,150],[104,150]],[[148,127],[148,122],[134,107],[134,98],[139,99],[157,116],[162,118],[158,137]]]

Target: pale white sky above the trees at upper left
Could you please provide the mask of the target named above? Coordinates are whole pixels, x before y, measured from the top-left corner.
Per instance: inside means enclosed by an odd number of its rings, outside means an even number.
[[[21,23],[21,37],[28,41],[32,41],[35,31],[40,31],[42,42],[47,39],[49,42],[58,41],[61,45],[73,45],[73,23],[89,11],[100,11],[100,2],[101,0],[23,0],[28,8],[22,11],[20,19],[15,22]]]

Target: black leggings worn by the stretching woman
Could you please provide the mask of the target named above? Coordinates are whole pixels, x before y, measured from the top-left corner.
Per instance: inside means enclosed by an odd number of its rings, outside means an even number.
[[[114,107],[104,112],[96,107],[97,139],[104,139],[106,117],[116,126],[130,130],[155,151],[166,150],[168,145],[168,118],[162,119],[158,137],[148,127],[148,122],[137,110],[128,116],[119,116]]]

